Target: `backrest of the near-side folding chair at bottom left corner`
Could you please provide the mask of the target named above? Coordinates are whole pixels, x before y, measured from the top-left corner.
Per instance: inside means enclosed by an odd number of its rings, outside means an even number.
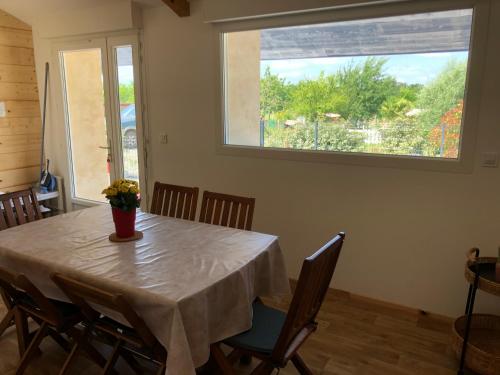
[[[62,324],[62,317],[57,308],[45,295],[22,273],[15,273],[0,267],[0,288],[9,307],[18,304],[28,308],[30,313],[49,322],[53,326]],[[23,293],[32,301],[26,303]],[[25,303],[22,303],[24,301]],[[34,303],[34,305],[31,304]]]

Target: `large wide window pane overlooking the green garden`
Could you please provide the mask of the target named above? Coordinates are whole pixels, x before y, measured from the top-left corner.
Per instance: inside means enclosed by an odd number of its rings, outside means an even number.
[[[472,17],[226,33],[226,143],[457,159]]]

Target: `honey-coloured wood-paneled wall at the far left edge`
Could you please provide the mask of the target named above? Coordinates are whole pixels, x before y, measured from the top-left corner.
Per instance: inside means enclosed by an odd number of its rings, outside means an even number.
[[[40,141],[31,27],[0,10],[0,191],[38,179]]]

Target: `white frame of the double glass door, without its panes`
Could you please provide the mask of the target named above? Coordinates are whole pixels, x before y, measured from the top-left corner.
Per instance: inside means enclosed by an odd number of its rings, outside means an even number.
[[[111,43],[110,43],[111,41]],[[54,100],[54,125],[55,129],[51,131],[49,129],[49,134],[47,138],[53,136],[54,138],[58,138],[58,134],[62,134],[64,129],[64,141],[63,143],[63,153],[65,154],[64,158],[56,158],[56,170],[59,174],[63,175],[64,179],[67,181],[64,185],[65,189],[65,197],[66,197],[66,206],[68,210],[71,211],[74,206],[78,207],[91,207],[102,204],[101,202],[86,200],[81,198],[74,197],[74,188],[73,188],[73,164],[72,164],[72,150],[71,150],[71,141],[70,141],[70,128],[69,122],[67,118],[67,108],[65,101],[65,87],[64,87],[64,76],[62,74],[61,63],[59,58],[59,52],[64,50],[78,50],[78,49],[86,49],[92,48],[92,46],[99,46],[102,51],[102,68],[103,68],[103,76],[104,78],[103,87],[104,87],[104,96],[105,96],[105,114],[106,114],[106,122],[107,124],[111,124],[111,126],[107,126],[108,139],[111,142],[121,142],[121,133],[116,134],[116,129],[119,122],[119,112],[116,112],[116,102],[118,95],[116,98],[111,94],[111,85],[116,81],[116,77],[112,77],[114,74],[112,73],[112,58],[116,59],[113,56],[112,48],[117,45],[132,45],[133,50],[133,63],[134,63],[134,88],[135,88],[135,102],[136,102],[136,135],[137,135],[137,152],[139,157],[139,178],[141,184],[141,209],[147,210],[149,207],[149,195],[148,195],[148,158],[147,158],[147,146],[148,146],[148,134],[149,127],[147,123],[147,113],[146,113],[146,98],[145,94],[145,80],[146,80],[146,71],[145,67],[142,64],[142,33],[138,29],[132,30],[124,30],[119,32],[110,32],[110,33],[96,33],[89,35],[80,35],[80,36],[72,36],[72,37],[63,37],[63,38],[52,38],[52,53],[51,53],[51,70],[53,73],[49,77],[49,81],[53,87],[53,90],[50,92],[53,95]],[[135,48],[134,48],[135,47]],[[111,52],[110,52],[111,51]],[[116,71],[116,69],[113,69]],[[115,102],[115,103],[113,103]],[[118,101],[119,108],[119,101]],[[116,144],[116,143],[115,143]],[[55,145],[57,147],[57,145]],[[112,157],[115,160],[121,157],[121,147],[113,147],[112,148]],[[120,163],[112,163],[114,166],[114,173],[117,176],[120,176],[122,173],[122,162]],[[104,187],[103,187],[104,188]]]

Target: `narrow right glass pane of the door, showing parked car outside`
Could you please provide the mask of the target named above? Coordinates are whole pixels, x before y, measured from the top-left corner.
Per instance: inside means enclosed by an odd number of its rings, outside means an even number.
[[[139,182],[132,46],[115,48],[118,62],[120,129],[124,178]]]

